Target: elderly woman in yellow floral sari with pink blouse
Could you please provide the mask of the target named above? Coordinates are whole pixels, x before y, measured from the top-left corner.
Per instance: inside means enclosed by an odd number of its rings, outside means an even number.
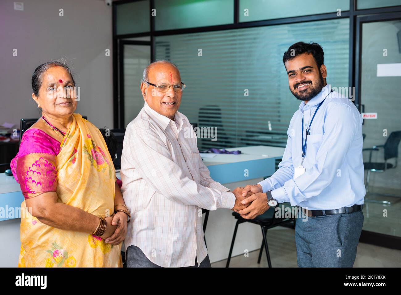
[[[42,117],[11,163],[25,198],[18,267],[122,267],[130,214],[100,131],[74,113],[71,70],[44,63],[32,89]]]

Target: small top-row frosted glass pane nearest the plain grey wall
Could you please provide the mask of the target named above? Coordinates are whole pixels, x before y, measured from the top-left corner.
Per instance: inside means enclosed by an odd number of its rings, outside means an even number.
[[[117,35],[150,31],[149,0],[116,6]]]

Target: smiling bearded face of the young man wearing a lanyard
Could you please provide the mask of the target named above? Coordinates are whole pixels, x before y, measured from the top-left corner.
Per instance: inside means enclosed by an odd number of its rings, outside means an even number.
[[[326,66],[321,65],[319,69],[312,54],[297,55],[286,61],[285,65],[290,91],[299,100],[314,98],[326,85]]]

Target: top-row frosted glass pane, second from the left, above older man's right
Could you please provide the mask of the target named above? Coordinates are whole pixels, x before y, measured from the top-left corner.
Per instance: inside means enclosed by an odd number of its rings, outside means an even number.
[[[233,0],[155,0],[155,29],[232,24]]]

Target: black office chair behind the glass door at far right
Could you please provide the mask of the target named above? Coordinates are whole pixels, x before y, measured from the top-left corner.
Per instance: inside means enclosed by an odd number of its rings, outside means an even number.
[[[386,143],[382,145],[375,145],[371,148],[363,149],[362,151],[370,151],[369,154],[369,162],[363,163],[363,167],[365,170],[367,170],[367,176],[366,176],[366,192],[369,192],[369,181],[370,181],[370,176],[371,172],[384,172],[387,169],[392,169],[397,167],[397,161],[398,161],[398,146],[401,140],[401,131],[394,131],[391,132],[390,136],[387,138]],[[384,162],[372,162],[372,152],[373,151],[380,151],[380,148],[383,148],[384,150]],[[395,158],[395,164],[387,163],[387,160]],[[376,195],[387,195],[390,197],[400,197],[398,195],[391,195],[391,194],[385,194],[385,193],[372,193],[371,194],[376,194]],[[365,201],[373,202],[373,203],[383,203],[390,205],[391,202],[389,201],[377,201],[377,200],[369,200],[365,199]]]

